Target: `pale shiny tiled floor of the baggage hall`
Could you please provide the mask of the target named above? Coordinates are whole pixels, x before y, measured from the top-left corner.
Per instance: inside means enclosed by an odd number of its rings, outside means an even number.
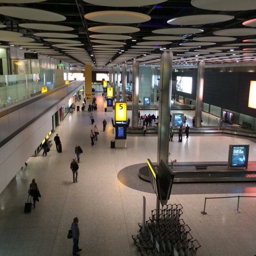
[[[28,166],[17,174],[0,195],[0,256],[69,256],[72,240],[67,231],[79,218],[81,256],[139,256],[131,235],[142,221],[143,196],[146,219],[156,207],[151,184],[137,176],[137,164],[157,161],[157,134],[128,135],[126,149],[110,147],[114,139],[111,117],[104,112],[102,96],[93,112],[99,128],[98,141],[90,145],[90,114],[68,114],[56,129],[62,153],[53,143],[47,157],[30,157]],[[144,112],[144,111],[143,111]],[[141,111],[141,113],[143,113]],[[154,111],[150,111],[153,113]],[[185,111],[187,117],[193,111]],[[131,118],[131,111],[128,111]],[[102,131],[102,121],[108,124]],[[188,124],[191,125],[191,119]],[[204,123],[217,125],[216,117],[203,114]],[[190,122],[190,123],[189,123]],[[211,124],[211,125],[212,125]],[[52,134],[53,140],[56,132]],[[70,162],[76,143],[81,145],[78,183],[73,183]],[[191,134],[183,143],[170,143],[172,158],[180,162],[227,161],[229,144],[250,144],[249,161],[256,160],[256,141],[247,137]],[[129,167],[131,166],[131,167]],[[130,173],[129,182],[124,179]],[[127,174],[127,173],[125,173]],[[29,214],[24,214],[29,183],[35,178],[42,198]],[[133,184],[131,186],[131,180]],[[181,218],[192,229],[201,248],[199,256],[253,256],[256,254],[256,198],[209,199],[207,215],[202,215],[205,197],[256,196],[254,183],[174,184],[169,203],[182,204]]]

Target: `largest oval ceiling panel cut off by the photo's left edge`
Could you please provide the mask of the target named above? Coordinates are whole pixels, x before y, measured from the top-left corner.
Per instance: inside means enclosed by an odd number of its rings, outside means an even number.
[[[0,6],[0,14],[25,19],[25,20],[40,20],[40,21],[63,21],[66,17],[55,12],[44,10],[17,7],[17,6]]]

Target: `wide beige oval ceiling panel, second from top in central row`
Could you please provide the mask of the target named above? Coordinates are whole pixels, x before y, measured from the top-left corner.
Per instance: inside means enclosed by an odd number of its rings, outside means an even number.
[[[140,12],[128,12],[128,11],[90,12],[84,15],[84,17],[87,20],[93,20],[96,22],[103,22],[103,23],[114,23],[114,24],[142,23],[151,19],[149,15],[145,15]]]

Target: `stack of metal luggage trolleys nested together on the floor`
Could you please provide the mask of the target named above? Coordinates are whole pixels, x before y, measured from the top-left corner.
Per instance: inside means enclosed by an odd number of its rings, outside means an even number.
[[[146,221],[145,233],[143,224],[139,223],[139,235],[132,239],[141,255],[145,256],[196,256],[201,247],[190,234],[190,228],[180,215],[183,214],[181,204],[163,205],[160,218],[157,220],[157,210],[151,211],[151,217]]]

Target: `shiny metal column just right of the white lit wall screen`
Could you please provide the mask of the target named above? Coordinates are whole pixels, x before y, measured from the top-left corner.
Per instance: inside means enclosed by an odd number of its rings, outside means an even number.
[[[195,127],[201,127],[204,94],[204,62],[198,62],[198,75],[196,81],[195,99]]]

